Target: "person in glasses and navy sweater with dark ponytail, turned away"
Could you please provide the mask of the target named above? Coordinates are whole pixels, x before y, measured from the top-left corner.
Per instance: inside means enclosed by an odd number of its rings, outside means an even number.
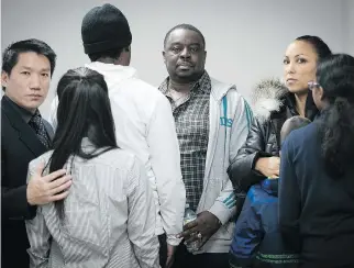
[[[309,88],[321,115],[283,146],[280,228],[301,267],[354,267],[354,57],[322,60]]]

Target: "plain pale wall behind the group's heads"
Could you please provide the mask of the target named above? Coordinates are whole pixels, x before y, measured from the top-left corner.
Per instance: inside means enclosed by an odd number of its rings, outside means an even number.
[[[85,13],[102,2],[115,4],[126,15],[133,34],[132,65],[155,86],[166,77],[165,33],[179,23],[193,24],[204,34],[209,74],[236,83],[246,97],[261,78],[281,76],[284,51],[299,35],[319,35],[334,52],[354,49],[345,27],[354,25],[350,0],[2,0],[2,49],[13,41],[36,37],[58,55],[51,93],[41,108],[44,116],[58,78],[88,62],[80,24]]]

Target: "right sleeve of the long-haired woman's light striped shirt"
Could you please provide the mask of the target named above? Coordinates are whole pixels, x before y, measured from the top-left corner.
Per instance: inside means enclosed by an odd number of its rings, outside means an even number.
[[[128,234],[142,268],[157,268],[158,239],[155,204],[146,170],[136,159],[128,175]]]

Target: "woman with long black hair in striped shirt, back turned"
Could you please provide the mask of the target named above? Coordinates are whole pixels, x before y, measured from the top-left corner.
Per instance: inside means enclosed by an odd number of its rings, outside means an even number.
[[[103,76],[68,70],[57,87],[53,150],[30,164],[66,168],[69,194],[26,222],[31,267],[158,267],[155,208],[145,169],[117,146]]]

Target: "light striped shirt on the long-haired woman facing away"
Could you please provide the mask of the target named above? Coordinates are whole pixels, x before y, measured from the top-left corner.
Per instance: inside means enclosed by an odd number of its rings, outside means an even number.
[[[91,147],[88,139],[82,146]],[[29,179],[51,155],[31,161]],[[73,185],[64,220],[48,203],[26,221],[30,267],[159,267],[154,198],[136,157],[112,149],[89,160],[71,157],[66,168]]]

